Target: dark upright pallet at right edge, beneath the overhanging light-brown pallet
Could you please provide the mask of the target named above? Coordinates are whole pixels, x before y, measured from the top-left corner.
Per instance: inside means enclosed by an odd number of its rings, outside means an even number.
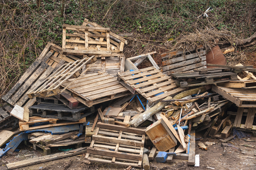
[[[256,102],[254,102],[256,104]],[[255,114],[256,108],[242,108],[239,107],[236,113],[236,119],[233,124],[233,127],[238,128],[239,130],[256,130],[256,124],[254,124],[253,120],[254,117],[256,116]],[[244,124],[242,124],[242,116],[246,114],[246,121]]]

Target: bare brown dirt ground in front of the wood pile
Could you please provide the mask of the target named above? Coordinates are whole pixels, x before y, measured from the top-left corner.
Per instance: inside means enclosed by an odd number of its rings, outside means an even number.
[[[200,155],[200,167],[188,167],[186,160],[173,159],[172,163],[157,163],[150,161],[150,170],[256,170],[256,148],[245,147],[242,144],[256,145],[256,142],[247,142],[244,139],[256,140],[256,137],[232,139],[229,147],[221,145],[219,139],[207,138],[205,142],[215,144],[207,146],[207,150],[201,150],[196,140],[196,154]],[[203,142],[203,141],[201,141]],[[0,159],[0,170],[7,170],[6,164],[25,159],[40,157],[40,153],[32,147],[20,144],[20,151],[7,154]],[[52,150],[52,153],[59,152]],[[35,164],[28,167],[18,168],[17,170],[125,170],[127,167],[116,164],[102,164],[91,162],[86,164],[85,154],[58,159],[55,161]],[[132,168],[132,170],[142,170],[143,168]]]

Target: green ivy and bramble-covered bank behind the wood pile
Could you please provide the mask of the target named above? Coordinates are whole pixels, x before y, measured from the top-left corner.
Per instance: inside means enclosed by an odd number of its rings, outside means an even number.
[[[209,3],[208,3],[209,2]],[[255,0],[5,0],[0,4],[0,95],[6,93],[38,57],[47,42],[61,46],[63,23],[81,25],[85,18],[127,37],[128,55],[167,50],[164,42],[198,30],[230,31],[250,37],[256,25]],[[209,17],[199,17],[208,7]]]

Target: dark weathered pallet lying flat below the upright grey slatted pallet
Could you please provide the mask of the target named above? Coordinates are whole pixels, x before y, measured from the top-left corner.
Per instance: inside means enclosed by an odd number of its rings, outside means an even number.
[[[204,72],[205,71],[205,72]],[[237,74],[233,72],[216,72],[212,73],[212,69],[204,71],[195,71],[192,73],[172,73],[172,79],[175,79],[177,85],[180,85],[182,88],[185,87],[193,87],[199,85],[209,85],[215,83],[222,83],[222,82],[230,82],[231,80],[237,80]],[[203,73],[203,74],[202,74]],[[206,74],[204,74],[206,73]],[[187,79],[193,79],[194,81],[184,81]]]

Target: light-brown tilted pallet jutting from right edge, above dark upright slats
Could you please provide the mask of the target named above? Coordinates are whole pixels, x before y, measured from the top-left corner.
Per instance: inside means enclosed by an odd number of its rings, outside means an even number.
[[[256,101],[255,89],[225,88],[213,85],[212,91],[235,103],[238,107],[256,108],[256,104],[253,103]]]

